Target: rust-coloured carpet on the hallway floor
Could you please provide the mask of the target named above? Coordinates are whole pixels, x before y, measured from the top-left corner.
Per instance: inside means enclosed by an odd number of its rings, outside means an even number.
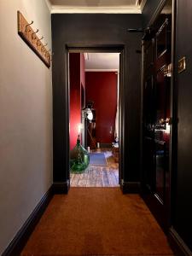
[[[139,195],[71,188],[49,203],[22,256],[173,255]]]

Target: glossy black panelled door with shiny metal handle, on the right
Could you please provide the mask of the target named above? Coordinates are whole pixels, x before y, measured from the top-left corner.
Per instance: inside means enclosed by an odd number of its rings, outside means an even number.
[[[167,231],[170,207],[172,15],[155,21],[143,40],[143,199]]]

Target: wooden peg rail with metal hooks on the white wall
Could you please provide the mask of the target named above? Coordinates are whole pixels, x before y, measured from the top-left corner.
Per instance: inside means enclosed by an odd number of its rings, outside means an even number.
[[[30,26],[32,23],[28,23],[24,16],[20,13],[20,11],[17,12],[17,21],[18,21],[18,34],[20,35],[20,38],[22,38],[26,44],[38,55],[38,57],[44,61],[44,64],[47,67],[50,67],[50,54],[49,50],[45,48],[46,44],[43,44],[41,42],[42,38],[38,38],[37,32],[34,32],[32,29],[32,26]]]

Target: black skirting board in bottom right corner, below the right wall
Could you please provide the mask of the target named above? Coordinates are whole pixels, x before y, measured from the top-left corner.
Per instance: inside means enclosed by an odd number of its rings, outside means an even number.
[[[192,252],[173,227],[169,230],[168,241],[177,256],[192,256]]]

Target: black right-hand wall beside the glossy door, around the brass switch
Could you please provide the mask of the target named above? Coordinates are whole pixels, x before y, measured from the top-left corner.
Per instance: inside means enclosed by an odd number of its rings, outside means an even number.
[[[155,2],[155,3],[154,3]],[[160,0],[148,0],[143,9],[144,24],[158,8]],[[184,241],[192,252],[192,2],[191,0],[175,1],[176,12],[176,39],[175,39],[175,83],[174,106],[177,106],[178,123],[174,141],[172,159],[172,230],[177,232],[178,239]],[[156,7],[155,7],[156,4]],[[150,6],[152,9],[150,9]],[[186,57],[186,70],[177,73],[177,61]],[[176,127],[177,126],[177,127]],[[180,238],[179,238],[180,237]],[[181,243],[182,243],[182,240]]]

